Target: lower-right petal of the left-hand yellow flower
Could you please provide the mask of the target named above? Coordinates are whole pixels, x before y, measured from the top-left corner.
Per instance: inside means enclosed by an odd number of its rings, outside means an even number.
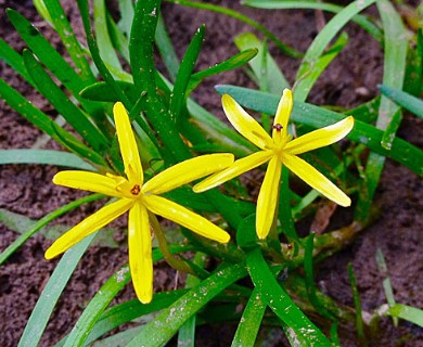
[[[198,235],[220,243],[227,243],[230,240],[230,235],[225,230],[215,226],[204,217],[194,214],[188,208],[167,198],[156,195],[146,195],[144,196],[144,203],[145,207],[153,214],[172,220],[176,223],[192,230]]]

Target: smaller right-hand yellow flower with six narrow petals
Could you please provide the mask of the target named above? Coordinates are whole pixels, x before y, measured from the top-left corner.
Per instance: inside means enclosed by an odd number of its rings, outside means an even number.
[[[268,235],[273,222],[282,165],[285,165],[309,185],[338,205],[350,205],[351,201],[345,193],[297,155],[330,145],[346,137],[354,127],[352,117],[347,117],[332,126],[292,140],[292,136],[287,132],[287,123],[293,107],[291,90],[285,89],[279,102],[273,120],[272,137],[230,95],[222,95],[222,105],[233,127],[261,151],[241,158],[229,168],[206,178],[194,185],[195,192],[206,191],[269,162],[257,200],[256,232],[259,239],[265,239]]]

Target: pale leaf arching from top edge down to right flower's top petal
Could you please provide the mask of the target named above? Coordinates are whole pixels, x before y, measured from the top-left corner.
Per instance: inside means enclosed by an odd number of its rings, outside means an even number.
[[[317,68],[320,56],[333,38],[339,30],[359,12],[370,7],[376,0],[356,0],[338,12],[319,33],[312,43],[308,47],[307,52],[303,59],[302,65],[298,67],[296,81],[312,73]],[[309,86],[304,86],[302,89],[295,88],[294,99],[297,101],[305,101],[309,93]]]

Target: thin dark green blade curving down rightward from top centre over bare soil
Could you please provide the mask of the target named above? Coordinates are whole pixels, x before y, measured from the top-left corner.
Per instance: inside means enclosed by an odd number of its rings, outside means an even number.
[[[295,51],[291,47],[289,47],[289,46],[284,44],[283,42],[281,42],[265,26],[262,26],[261,24],[253,21],[248,16],[241,14],[240,12],[236,12],[236,11],[223,8],[223,7],[219,7],[219,5],[216,5],[216,4],[204,3],[204,2],[200,2],[200,1],[198,2],[187,1],[187,0],[166,0],[166,1],[167,2],[171,2],[171,3],[176,3],[176,4],[180,4],[180,5],[183,5],[183,7],[189,7],[189,8],[200,9],[200,10],[207,10],[207,11],[213,11],[213,12],[216,12],[216,13],[221,13],[221,14],[225,14],[225,15],[230,16],[232,18],[235,18],[238,21],[241,21],[241,22],[243,22],[245,24],[248,24],[253,28],[261,31],[262,35],[265,35],[269,40],[271,40],[286,55],[293,56],[293,57],[300,57],[302,56],[302,53]]]

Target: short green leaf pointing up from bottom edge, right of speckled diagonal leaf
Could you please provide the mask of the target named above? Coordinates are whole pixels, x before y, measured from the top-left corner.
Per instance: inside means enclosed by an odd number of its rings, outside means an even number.
[[[261,293],[256,287],[242,313],[240,324],[232,340],[232,347],[254,346],[266,307],[261,298]]]

